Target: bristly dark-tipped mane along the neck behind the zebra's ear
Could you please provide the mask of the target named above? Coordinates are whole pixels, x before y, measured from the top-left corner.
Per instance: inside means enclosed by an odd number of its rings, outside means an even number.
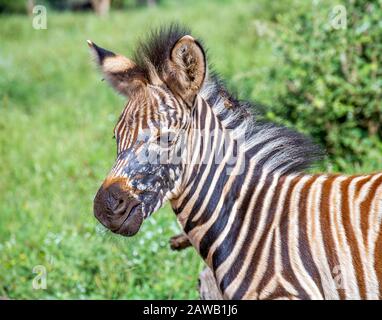
[[[200,95],[212,107],[223,127],[232,130],[235,138],[244,142],[244,150],[250,156],[271,154],[264,163],[267,170],[300,172],[323,157],[322,149],[302,133],[257,120],[258,110],[250,102],[239,101],[231,95],[215,73],[206,79]],[[251,150],[256,151],[251,153]]]

